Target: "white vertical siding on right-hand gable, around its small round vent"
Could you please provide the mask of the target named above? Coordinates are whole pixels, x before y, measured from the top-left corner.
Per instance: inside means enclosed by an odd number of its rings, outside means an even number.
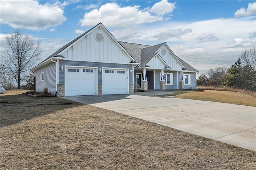
[[[166,55],[162,54],[162,49],[166,49]],[[164,59],[164,61],[172,68],[172,70],[182,70],[182,65],[180,62],[177,62],[177,58],[173,55],[173,53],[166,47],[162,46],[159,49],[159,55]]]

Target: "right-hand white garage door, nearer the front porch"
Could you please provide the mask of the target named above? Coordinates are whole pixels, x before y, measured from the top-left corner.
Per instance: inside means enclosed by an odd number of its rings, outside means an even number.
[[[128,69],[103,69],[103,95],[129,94]]]

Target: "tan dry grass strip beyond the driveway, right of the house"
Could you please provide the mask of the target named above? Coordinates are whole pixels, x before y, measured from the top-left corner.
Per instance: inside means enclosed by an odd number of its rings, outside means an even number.
[[[231,103],[236,105],[246,105],[256,107],[256,97],[248,93],[234,92],[234,91],[175,91],[170,94],[182,99],[195,99],[203,101],[216,101],[222,103]]]

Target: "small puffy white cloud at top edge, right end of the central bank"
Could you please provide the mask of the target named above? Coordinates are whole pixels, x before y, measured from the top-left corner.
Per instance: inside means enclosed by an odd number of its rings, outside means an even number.
[[[170,3],[168,2],[168,0],[162,0],[154,4],[149,11],[163,16],[165,14],[170,14],[171,12],[173,12],[173,10],[175,9],[175,4],[176,2]]]

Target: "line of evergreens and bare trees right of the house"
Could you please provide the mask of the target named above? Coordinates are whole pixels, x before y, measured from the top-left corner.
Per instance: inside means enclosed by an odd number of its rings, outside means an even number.
[[[228,86],[236,89],[256,91],[256,48],[242,51],[238,60],[230,67],[216,67],[200,75],[198,86]]]

